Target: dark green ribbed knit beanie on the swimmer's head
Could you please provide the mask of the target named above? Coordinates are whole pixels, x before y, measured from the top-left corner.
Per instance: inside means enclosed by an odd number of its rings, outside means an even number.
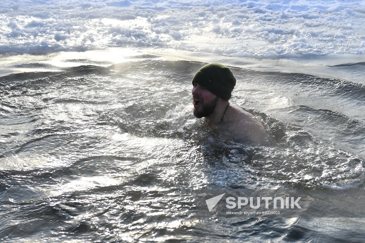
[[[210,63],[196,72],[193,77],[193,85],[194,83],[200,84],[223,100],[229,100],[236,85],[236,78],[229,67],[219,63]]]

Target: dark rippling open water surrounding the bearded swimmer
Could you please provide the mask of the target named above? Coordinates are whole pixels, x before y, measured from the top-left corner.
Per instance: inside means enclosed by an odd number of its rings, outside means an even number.
[[[203,64],[1,77],[0,240],[362,242],[364,219],[195,217],[202,188],[364,189],[364,85],[233,68],[231,103],[273,137],[257,146],[182,112]]]

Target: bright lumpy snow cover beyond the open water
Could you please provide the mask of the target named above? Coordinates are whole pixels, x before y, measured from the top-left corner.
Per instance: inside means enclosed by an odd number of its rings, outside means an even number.
[[[12,0],[0,54],[163,47],[230,57],[365,54],[364,0]]]

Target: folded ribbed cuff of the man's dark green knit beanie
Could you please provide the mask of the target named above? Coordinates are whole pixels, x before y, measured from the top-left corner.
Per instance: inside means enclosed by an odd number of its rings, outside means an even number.
[[[194,83],[200,84],[205,89],[212,92],[214,95],[218,96],[219,98],[228,101],[231,98],[231,92],[233,89],[230,89],[226,85],[222,84],[221,82],[215,80],[214,77],[209,77],[207,74],[198,71],[192,81]]]

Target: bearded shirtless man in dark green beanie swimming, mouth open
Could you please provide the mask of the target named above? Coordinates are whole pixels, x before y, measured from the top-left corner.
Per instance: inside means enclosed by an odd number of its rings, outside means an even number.
[[[195,74],[192,83],[196,118],[205,117],[205,123],[217,131],[243,136],[254,143],[269,143],[261,122],[228,102],[236,85],[236,78],[228,67],[219,63],[205,65]]]

